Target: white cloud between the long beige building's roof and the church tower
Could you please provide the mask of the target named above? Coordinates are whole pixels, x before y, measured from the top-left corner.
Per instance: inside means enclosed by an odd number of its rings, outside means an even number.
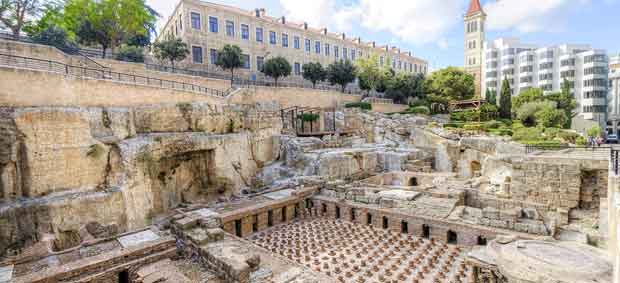
[[[347,32],[357,23],[375,32],[389,32],[413,44],[446,46],[444,34],[460,23],[461,0],[360,0],[337,6],[330,0],[280,0],[287,17],[313,26],[329,26]]]

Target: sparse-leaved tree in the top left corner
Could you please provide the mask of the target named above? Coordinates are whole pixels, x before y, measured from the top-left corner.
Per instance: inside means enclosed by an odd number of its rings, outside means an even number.
[[[0,0],[0,23],[18,37],[29,18],[36,16],[41,10],[39,0]]]

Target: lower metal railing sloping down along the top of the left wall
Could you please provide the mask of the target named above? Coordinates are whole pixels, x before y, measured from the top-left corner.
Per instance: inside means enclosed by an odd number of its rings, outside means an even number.
[[[213,95],[219,97],[226,97],[233,90],[228,89],[226,91],[203,87],[195,84],[164,80],[159,78],[152,78],[147,76],[140,76],[135,74],[126,74],[113,72],[106,69],[94,69],[81,66],[72,66],[57,61],[0,54],[0,65],[16,68],[34,69],[46,72],[54,72],[67,76],[74,76],[79,78],[90,78],[98,80],[108,80],[113,82],[127,83],[131,85],[158,87],[172,90],[181,90],[194,92],[199,94]]]

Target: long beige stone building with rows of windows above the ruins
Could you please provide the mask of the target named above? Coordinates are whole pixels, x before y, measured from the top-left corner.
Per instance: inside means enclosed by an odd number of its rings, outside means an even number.
[[[215,69],[217,50],[226,44],[238,45],[245,57],[241,73],[249,79],[261,77],[258,70],[265,60],[275,56],[286,58],[297,78],[302,66],[309,62],[326,66],[371,54],[396,72],[425,74],[428,68],[426,61],[396,47],[349,38],[344,33],[290,22],[285,17],[274,18],[265,9],[246,11],[198,0],[181,0],[177,4],[160,33],[160,37],[165,36],[181,38],[190,46],[191,56],[183,63],[192,67]]]

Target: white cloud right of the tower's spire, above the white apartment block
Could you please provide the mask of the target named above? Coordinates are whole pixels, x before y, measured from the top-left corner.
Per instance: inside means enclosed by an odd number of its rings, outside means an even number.
[[[590,2],[594,0],[502,0],[489,2],[484,10],[490,30],[530,33],[561,29],[571,7]]]

